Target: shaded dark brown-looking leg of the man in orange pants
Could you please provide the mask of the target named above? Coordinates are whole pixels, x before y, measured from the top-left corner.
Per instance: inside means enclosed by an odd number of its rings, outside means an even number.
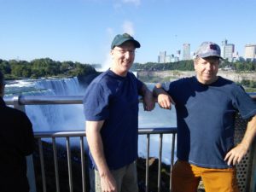
[[[172,192],[196,192],[200,172],[192,170],[188,162],[177,160],[172,168]]]

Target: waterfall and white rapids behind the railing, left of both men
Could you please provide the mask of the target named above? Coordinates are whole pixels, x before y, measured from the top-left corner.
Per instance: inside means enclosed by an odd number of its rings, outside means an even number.
[[[84,89],[77,78],[18,80],[7,84],[6,93],[8,96],[83,96]],[[82,105],[26,105],[25,109],[33,131],[84,130]]]

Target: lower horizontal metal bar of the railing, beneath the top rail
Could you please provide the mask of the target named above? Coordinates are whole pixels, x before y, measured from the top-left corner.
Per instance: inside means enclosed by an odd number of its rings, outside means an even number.
[[[172,134],[176,133],[176,127],[159,127],[159,128],[139,128],[138,133],[144,134]],[[47,138],[47,137],[84,137],[85,131],[34,131],[36,138]]]

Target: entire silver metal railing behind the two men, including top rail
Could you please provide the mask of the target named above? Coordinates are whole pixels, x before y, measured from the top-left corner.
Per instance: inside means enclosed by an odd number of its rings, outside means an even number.
[[[14,96],[14,97],[8,97],[4,98],[5,102],[8,105],[14,105],[15,108],[20,109],[22,111],[25,111],[25,105],[44,105],[44,104],[82,104],[83,96]],[[253,96],[253,99],[255,100],[256,97]],[[162,156],[162,139],[163,135],[165,134],[172,134],[172,145],[170,146],[171,151],[171,165],[170,165],[170,191],[171,191],[171,173],[172,173],[172,166],[174,161],[174,148],[175,148],[175,140],[176,140],[176,127],[169,127],[169,128],[154,128],[154,129],[139,129],[140,135],[146,135],[147,136],[147,155],[146,155],[146,172],[145,172],[145,191],[148,192],[148,160],[149,160],[149,148],[150,148],[150,136],[152,134],[159,134],[160,141],[159,141],[159,164],[158,164],[158,183],[157,183],[157,191],[160,192],[161,190],[161,156]],[[73,191],[73,168],[72,168],[72,155],[71,155],[71,144],[70,144],[70,138],[71,137],[79,137],[79,148],[80,148],[80,158],[81,158],[81,180],[82,180],[82,190],[83,192],[86,190],[86,184],[85,183],[85,164],[84,164],[84,137],[85,132],[84,131],[44,131],[44,132],[35,132],[35,137],[38,140],[38,153],[39,153],[39,159],[40,159],[40,166],[41,166],[41,175],[42,175],[42,185],[43,185],[43,191],[46,192],[47,186],[46,186],[46,176],[45,176],[45,165],[44,165],[44,149],[42,144],[42,138],[50,138],[53,148],[53,162],[54,162],[54,172],[55,172],[55,190],[57,192],[60,191],[60,179],[59,179],[59,168],[58,168],[58,155],[57,155],[57,144],[56,144],[56,138],[65,138],[66,139],[66,148],[67,148],[67,171],[68,171],[68,183],[69,183],[69,191]],[[256,142],[254,141],[252,150],[250,151],[250,155],[248,157],[248,161],[246,162],[248,164],[249,169],[253,169],[253,171],[250,172],[250,176],[247,175],[247,183],[245,183],[246,187],[243,191],[253,191],[252,189],[256,186]],[[28,159],[29,160],[29,159]],[[33,161],[30,160],[32,163]],[[32,173],[34,173],[33,165],[28,165],[30,169],[32,169]],[[39,174],[38,172],[35,172],[35,174]],[[244,172],[244,174],[247,174],[247,172]],[[31,177],[35,177],[33,174]],[[31,191],[37,191],[36,189],[36,183],[34,178],[30,178],[30,185],[32,186]],[[34,186],[34,187],[33,187]],[[41,191],[39,189],[39,191]]]

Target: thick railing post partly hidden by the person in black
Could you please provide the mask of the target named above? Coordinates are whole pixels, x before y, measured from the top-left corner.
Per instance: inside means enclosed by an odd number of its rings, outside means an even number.
[[[26,113],[25,106],[20,105],[20,96],[14,96],[14,108]],[[32,155],[26,156],[26,177],[30,186],[30,192],[37,192]]]

